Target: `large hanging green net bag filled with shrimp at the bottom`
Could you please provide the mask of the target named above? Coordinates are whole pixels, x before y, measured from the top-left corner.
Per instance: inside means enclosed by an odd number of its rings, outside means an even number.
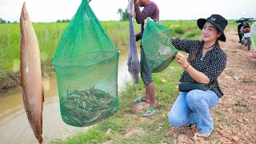
[[[88,2],[82,0],[53,60],[63,122],[90,126],[118,111],[118,57]]]

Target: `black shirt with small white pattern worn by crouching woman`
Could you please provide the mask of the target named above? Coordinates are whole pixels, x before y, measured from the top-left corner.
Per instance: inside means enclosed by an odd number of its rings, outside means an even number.
[[[200,41],[198,40],[180,38],[172,39],[173,46],[178,50],[189,53],[189,57],[191,54],[193,54],[194,50],[197,49],[199,43]],[[223,92],[218,86],[217,78],[226,67],[226,53],[220,48],[218,42],[212,50],[206,52],[204,58],[202,58],[202,47],[200,47],[198,54],[196,54],[196,57],[190,63],[190,65],[193,66],[195,70],[206,74],[212,83],[210,90],[213,90],[218,95],[218,97],[221,98]],[[190,74],[186,72],[186,70],[184,70],[180,82],[195,82],[195,80],[190,76]]]

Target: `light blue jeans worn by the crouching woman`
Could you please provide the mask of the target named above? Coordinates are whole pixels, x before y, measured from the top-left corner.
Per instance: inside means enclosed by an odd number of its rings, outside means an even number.
[[[191,90],[179,92],[169,113],[172,126],[197,124],[199,133],[214,130],[210,109],[217,105],[219,97],[212,90]]]

